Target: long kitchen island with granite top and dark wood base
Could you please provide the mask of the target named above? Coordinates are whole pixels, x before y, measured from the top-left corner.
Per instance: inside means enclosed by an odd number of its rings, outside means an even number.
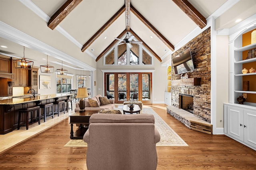
[[[65,100],[70,98],[71,95],[72,94],[49,94],[35,97],[26,95],[0,100],[0,135],[9,133],[17,128],[19,109]],[[21,121],[24,121],[24,117],[21,118]]]

